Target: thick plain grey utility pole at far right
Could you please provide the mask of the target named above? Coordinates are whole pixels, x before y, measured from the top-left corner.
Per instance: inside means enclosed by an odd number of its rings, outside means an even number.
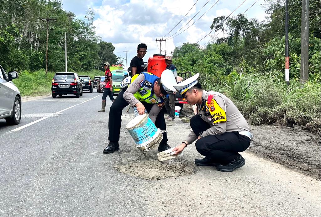
[[[309,0],[302,0],[301,14],[301,70],[300,80],[305,83],[309,78]]]

